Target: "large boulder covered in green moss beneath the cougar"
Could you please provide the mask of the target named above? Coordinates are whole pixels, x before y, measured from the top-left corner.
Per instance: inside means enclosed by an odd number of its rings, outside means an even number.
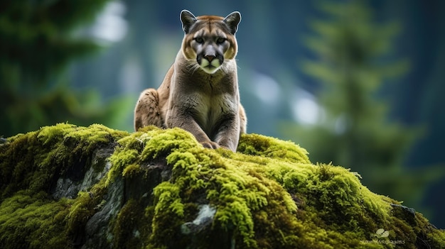
[[[242,135],[62,123],[0,144],[1,248],[445,248],[445,232],[360,175]]]

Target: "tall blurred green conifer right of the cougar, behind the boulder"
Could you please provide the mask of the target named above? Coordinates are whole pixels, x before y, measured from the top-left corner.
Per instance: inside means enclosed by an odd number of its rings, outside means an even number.
[[[387,118],[382,86],[409,68],[407,60],[387,60],[400,23],[377,23],[365,1],[323,2],[319,9],[326,19],[311,21],[313,35],[304,39],[316,59],[304,60],[301,69],[320,83],[326,115],[316,126],[283,124],[280,130],[311,151],[312,160],[349,165],[373,191],[419,206],[427,183],[445,172],[404,168],[419,129]]]

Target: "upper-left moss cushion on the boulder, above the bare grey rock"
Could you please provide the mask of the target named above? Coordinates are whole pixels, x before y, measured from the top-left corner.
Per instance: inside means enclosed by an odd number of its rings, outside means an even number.
[[[21,189],[48,190],[70,170],[85,172],[97,148],[125,135],[101,125],[86,128],[60,123],[8,138],[0,150],[0,197]]]

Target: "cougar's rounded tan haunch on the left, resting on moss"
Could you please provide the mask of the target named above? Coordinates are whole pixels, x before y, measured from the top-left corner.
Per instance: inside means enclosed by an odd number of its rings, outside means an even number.
[[[145,89],[134,108],[134,130],[144,126],[165,128],[159,109],[159,95],[156,89]]]

